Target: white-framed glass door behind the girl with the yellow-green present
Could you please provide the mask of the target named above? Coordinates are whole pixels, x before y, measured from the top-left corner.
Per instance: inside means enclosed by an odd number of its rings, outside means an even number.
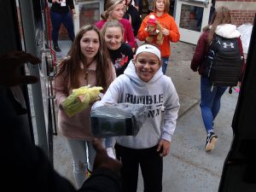
[[[88,24],[96,24],[101,20],[101,14],[104,9],[104,0],[75,0],[75,10],[78,15],[74,21],[75,33],[79,28]]]

